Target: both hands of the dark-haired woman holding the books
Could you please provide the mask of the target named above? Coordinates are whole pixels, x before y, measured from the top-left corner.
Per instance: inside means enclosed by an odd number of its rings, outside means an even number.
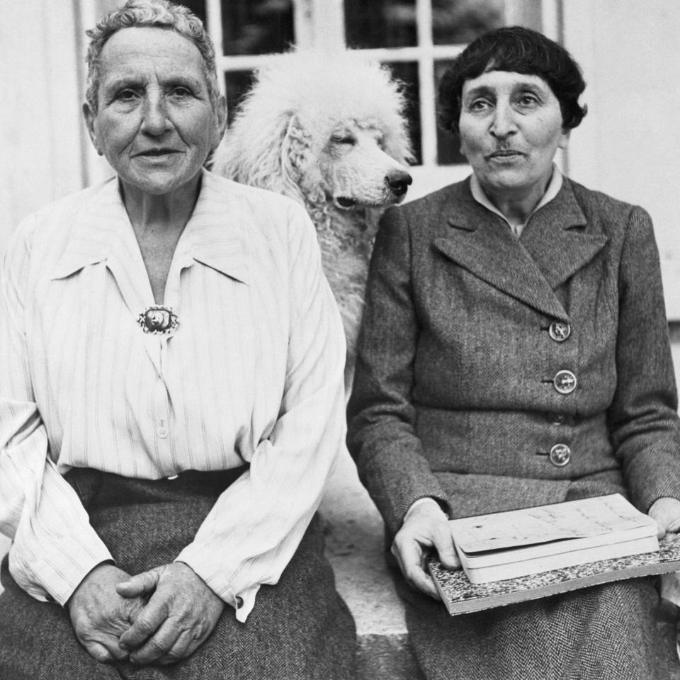
[[[657,523],[659,538],[666,533],[680,531],[679,500],[659,498],[652,504],[648,514]],[[431,550],[436,551],[439,561],[447,569],[460,569],[448,519],[435,501],[413,506],[409,510],[392,543],[392,555],[397,558],[399,568],[411,587],[438,600],[437,589],[426,572],[426,560]]]

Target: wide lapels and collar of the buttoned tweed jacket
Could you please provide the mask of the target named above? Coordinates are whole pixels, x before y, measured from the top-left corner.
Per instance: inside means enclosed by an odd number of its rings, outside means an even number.
[[[477,203],[467,182],[447,205],[446,235],[434,246],[470,273],[530,307],[569,321],[555,288],[604,246],[587,234],[586,220],[565,178],[555,199],[538,210],[516,239],[506,223]]]

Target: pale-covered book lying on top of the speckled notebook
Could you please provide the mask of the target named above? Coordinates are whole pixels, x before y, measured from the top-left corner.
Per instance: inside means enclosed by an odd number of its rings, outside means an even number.
[[[657,524],[621,494],[449,522],[471,583],[659,550]]]

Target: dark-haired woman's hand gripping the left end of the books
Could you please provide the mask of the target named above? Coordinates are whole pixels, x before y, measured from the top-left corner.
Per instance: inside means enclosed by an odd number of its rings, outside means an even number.
[[[426,559],[431,549],[447,569],[460,569],[448,519],[435,502],[412,507],[392,543],[404,578],[415,589],[433,599],[440,599],[431,576],[426,572]]]

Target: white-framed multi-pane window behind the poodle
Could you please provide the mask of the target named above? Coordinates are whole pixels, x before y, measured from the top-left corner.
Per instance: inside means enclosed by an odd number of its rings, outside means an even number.
[[[458,142],[436,125],[436,83],[450,60],[486,30],[509,23],[540,28],[545,0],[184,0],[205,21],[224,74],[229,111],[254,69],[288,45],[351,47],[387,64],[404,82],[412,145],[428,191],[464,164]],[[415,169],[418,171],[418,169]],[[467,169],[460,169],[460,176]]]

